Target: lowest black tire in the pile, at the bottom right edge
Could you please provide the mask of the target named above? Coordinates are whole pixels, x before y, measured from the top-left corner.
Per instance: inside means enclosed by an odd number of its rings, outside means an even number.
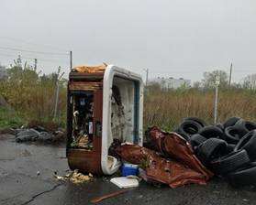
[[[256,185],[256,163],[251,162],[246,167],[240,167],[228,174],[228,182],[233,187]]]

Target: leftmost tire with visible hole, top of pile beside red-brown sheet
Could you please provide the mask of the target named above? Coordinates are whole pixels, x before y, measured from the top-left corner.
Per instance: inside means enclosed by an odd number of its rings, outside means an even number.
[[[187,120],[179,126],[178,134],[189,140],[191,135],[197,134],[201,129],[202,126],[200,124],[197,124],[195,121]]]

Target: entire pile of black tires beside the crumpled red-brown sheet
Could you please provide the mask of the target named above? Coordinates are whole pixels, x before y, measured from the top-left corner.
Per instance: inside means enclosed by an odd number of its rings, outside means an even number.
[[[231,117],[224,124],[207,125],[188,117],[175,131],[207,168],[232,186],[256,185],[256,124]]]

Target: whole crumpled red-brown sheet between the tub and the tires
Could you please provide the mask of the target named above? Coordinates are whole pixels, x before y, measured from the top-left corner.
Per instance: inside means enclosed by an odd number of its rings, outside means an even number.
[[[171,188],[191,183],[206,184],[213,176],[182,136],[163,132],[155,126],[148,131],[147,147],[122,145],[116,151],[123,160],[144,170],[141,178]]]

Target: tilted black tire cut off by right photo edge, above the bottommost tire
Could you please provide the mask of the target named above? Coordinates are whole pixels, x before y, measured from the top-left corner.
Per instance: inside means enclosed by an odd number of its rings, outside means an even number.
[[[238,151],[241,149],[247,151],[251,161],[256,159],[256,130],[250,131],[239,140],[234,150]]]

